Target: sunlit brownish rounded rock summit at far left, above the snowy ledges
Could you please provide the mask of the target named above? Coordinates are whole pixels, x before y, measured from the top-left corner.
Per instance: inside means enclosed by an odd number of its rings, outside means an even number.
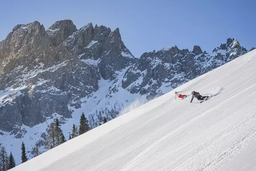
[[[21,63],[32,60],[25,55],[35,55],[37,51],[42,50],[42,46],[50,44],[44,25],[38,21],[16,25],[12,30],[0,45],[0,73],[1,70],[10,72]]]

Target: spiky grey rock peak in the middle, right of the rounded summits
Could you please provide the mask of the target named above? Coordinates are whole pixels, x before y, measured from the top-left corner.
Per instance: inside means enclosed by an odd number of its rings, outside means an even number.
[[[93,64],[105,80],[135,60],[121,40],[118,28],[111,32],[104,26],[93,28],[90,23],[65,40],[63,45],[85,62],[94,60]]]

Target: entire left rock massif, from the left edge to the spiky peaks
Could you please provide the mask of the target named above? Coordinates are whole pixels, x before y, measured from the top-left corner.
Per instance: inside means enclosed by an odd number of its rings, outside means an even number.
[[[108,79],[129,64],[123,51],[134,60],[118,29],[111,32],[107,28],[100,37],[101,28],[95,36],[92,24],[76,31],[70,20],[58,21],[47,31],[37,21],[13,28],[0,43],[0,92],[6,94],[0,100],[1,130],[12,131],[13,126],[18,129],[22,124],[32,127],[53,113],[72,117],[68,105],[79,108],[83,103],[80,99],[98,89],[100,75],[95,67]],[[73,37],[75,41],[66,44]],[[95,37],[103,42],[98,49],[92,48]],[[77,57],[84,49],[100,54],[95,57],[101,62],[94,67]],[[106,50],[112,56],[102,55]]]

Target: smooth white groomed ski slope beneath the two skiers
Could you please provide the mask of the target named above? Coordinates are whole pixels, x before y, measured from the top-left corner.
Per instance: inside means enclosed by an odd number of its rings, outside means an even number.
[[[255,66],[256,50],[11,171],[256,171]]]

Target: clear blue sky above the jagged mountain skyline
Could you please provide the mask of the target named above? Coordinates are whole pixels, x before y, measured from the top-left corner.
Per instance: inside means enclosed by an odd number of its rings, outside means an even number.
[[[64,19],[120,28],[136,57],[172,45],[210,52],[229,37],[256,47],[256,0],[1,0],[0,40],[17,24]]]

